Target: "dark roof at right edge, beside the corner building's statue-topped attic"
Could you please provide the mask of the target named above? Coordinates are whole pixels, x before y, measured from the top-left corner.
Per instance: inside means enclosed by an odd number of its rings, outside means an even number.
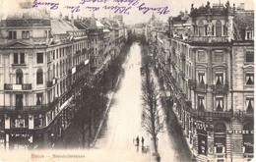
[[[242,11],[234,15],[234,30],[239,32],[242,39],[245,37],[245,29],[254,29],[254,12]],[[237,37],[236,37],[237,39]]]

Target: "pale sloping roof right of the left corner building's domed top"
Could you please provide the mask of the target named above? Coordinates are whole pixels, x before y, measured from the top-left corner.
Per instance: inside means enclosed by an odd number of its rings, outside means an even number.
[[[51,20],[51,30],[53,34],[66,34],[68,30],[77,29],[77,27],[72,26],[64,20]]]

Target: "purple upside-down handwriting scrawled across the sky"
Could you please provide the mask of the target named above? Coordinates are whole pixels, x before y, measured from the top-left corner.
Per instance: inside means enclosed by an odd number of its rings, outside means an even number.
[[[69,10],[71,13],[78,13],[82,10],[88,10],[90,12],[104,10],[123,15],[130,15],[130,13],[134,10],[142,12],[143,14],[147,14],[149,11],[155,11],[160,15],[166,15],[169,13],[167,6],[151,7],[146,3],[140,2],[140,0],[81,0],[78,4],[73,5],[74,6],[64,6],[63,9]],[[57,10],[59,9],[60,4],[55,2],[40,2],[39,0],[33,0],[32,7],[37,8],[39,6],[48,7],[50,10]]]

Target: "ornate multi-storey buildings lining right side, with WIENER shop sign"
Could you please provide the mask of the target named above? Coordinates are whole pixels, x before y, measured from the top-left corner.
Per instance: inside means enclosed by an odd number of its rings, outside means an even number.
[[[248,22],[253,15],[228,2],[192,5],[189,16],[169,18],[169,29],[158,30],[150,42],[171,107],[198,161],[253,157],[254,27]]]

